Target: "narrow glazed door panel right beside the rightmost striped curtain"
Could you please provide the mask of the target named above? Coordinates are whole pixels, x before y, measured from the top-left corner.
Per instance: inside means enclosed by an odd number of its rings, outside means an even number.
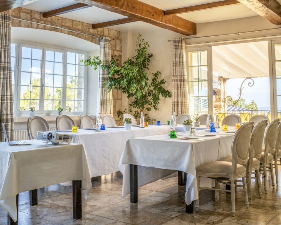
[[[189,113],[208,112],[207,51],[188,52]]]

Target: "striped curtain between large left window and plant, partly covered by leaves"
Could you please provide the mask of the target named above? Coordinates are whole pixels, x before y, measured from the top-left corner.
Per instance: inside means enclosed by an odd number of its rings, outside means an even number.
[[[110,38],[103,37],[100,42],[100,57],[103,63],[109,64],[111,60]],[[98,112],[100,114],[109,114],[113,116],[113,100],[112,91],[108,92],[108,88],[104,86],[108,77],[108,70],[99,70],[98,78]]]

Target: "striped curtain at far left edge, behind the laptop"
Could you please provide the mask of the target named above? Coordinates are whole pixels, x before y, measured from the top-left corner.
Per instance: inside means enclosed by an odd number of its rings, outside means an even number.
[[[11,68],[11,15],[0,13],[0,123],[14,139],[13,91]],[[1,129],[0,141],[5,140]]]

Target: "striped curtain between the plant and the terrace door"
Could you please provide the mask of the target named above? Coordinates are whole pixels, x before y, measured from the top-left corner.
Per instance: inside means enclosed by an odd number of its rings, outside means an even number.
[[[184,38],[173,40],[173,72],[172,72],[172,112],[175,116],[188,114],[188,89],[186,72],[186,49]]]

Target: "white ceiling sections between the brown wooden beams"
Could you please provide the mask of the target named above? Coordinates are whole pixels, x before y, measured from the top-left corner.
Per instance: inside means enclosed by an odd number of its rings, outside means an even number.
[[[180,7],[186,7],[191,5],[205,4],[210,2],[216,2],[220,0],[180,0],[180,1],[171,1],[171,0],[140,0],[146,4],[150,4],[162,10],[175,9]],[[278,0],[281,2],[281,0]],[[74,0],[40,0],[35,1],[29,4],[24,5],[24,8],[36,10],[39,12],[46,12],[50,10],[54,10],[60,7],[64,7],[71,4],[76,4],[78,1]],[[209,10],[202,10],[192,13],[183,13],[178,16],[193,21],[195,23],[206,23],[213,21],[222,21],[222,20],[230,20],[236,18],[244,18],[250,16],[256,16],[257,14],[253,12],[251,9],[247,8],[243,4],[239,5],[231,5],[227,7],[220,7]],[[96,24],[106,21],[112,21],[116,19],[125,18],[125,16],[112,13],[107,10],[103,10],[97,7],[89,7],[81,10],[76,10],[70,13],[65,13],[59,15],[64,18],[69,18],[85,23]],[[128,24],[121,24],[110,27],[114,30],[120,31],[131,31],[131,32],[143,32],[143,31],[151,31],[161,29],[151,24],[147,24],[145,22],[134,22]]]

